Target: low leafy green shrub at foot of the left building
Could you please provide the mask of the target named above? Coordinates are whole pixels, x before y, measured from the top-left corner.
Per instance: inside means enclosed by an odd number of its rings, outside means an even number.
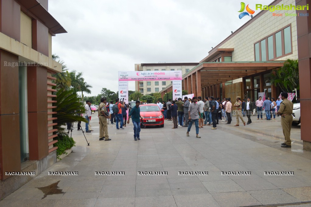
[[[73,140],[73,138],[69,137],[65,132],[59,132],[58,136],[55,137],[54,140],[58,140],[58,142],[54,144],[54,147],[58,147],[58,149],[56,150],[58,159],[60,159],[59,155],[67,154],[67,149],[76,146],[76,142]]]

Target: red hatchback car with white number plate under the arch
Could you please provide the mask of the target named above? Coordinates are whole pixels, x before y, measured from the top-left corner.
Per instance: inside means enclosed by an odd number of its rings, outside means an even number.
[[[144,117],[142,123],[146,126],[164,127],[164,116],[160,107],[156,104],[142,104],[140,107],[140,115]]]

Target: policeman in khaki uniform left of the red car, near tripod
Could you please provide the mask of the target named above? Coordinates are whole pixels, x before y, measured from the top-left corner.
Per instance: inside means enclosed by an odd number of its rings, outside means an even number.
[[[109,141],[109,134],[108,134],[108,124],[107,119],[108,113],[106,109],[106,99],[100,99],[100,105],[98,106],[98,118],[99,118],[99,140]]]

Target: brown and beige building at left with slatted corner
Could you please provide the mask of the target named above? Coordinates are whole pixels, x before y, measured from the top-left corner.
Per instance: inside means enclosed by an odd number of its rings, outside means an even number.
[[[0,199],[56,162],[52,36],[66,33],[48,0],[0,0]],[[8,172],[35,172],[12,176]]]

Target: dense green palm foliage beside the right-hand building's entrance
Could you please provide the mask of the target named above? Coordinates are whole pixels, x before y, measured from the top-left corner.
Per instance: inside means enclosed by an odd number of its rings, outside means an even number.
[[[299,90],[298,60],[287,59],[283,67],[273,70],[267,81],[270,81],[274,86],[280,87],[285,92],[291,92],[295,88]]]

